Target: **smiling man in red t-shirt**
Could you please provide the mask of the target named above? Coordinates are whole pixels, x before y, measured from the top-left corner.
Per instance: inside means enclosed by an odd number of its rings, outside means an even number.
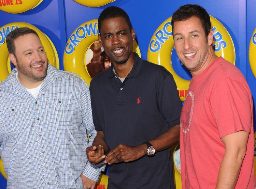
[[[181,113],[182,188],[255,188],[253,102],[239,69],[212,48],[199,5],[172,16],[174,46],[191,79]]]

